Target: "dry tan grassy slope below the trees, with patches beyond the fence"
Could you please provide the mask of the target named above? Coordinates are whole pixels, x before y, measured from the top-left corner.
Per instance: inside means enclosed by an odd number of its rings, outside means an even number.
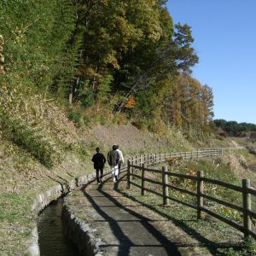
[[[24,109],[20,109],[20,119],[27,120],[24,126],[16,125],[15,119],[9,118],[1,127],[0,244],[1,251],[7,255],[23,255],[26,251],[26,241],[37,218],[31,212],[35,196],[57,183],[94,172],[90,159],[97,146],[107,154],[113,143],[119,143],[125,157],[193,148],[179,131],[169,128],[162,135],[139,131],[127,121],[126,125],[118,124],[111,114],[104,125],[97,122],[96,117],[90,117],[90,125],[78,128],[67,118],[65,109],[39,96],[34,97],[37,97],[37,104],[27,100]],[[196,146],[224,144],[232,145],[232,141],[212,139]],[[217,178],[229,181],[232,177],[231,181],[237,183],[247,175],[253,178],[254,174],[245,172],[243,167],[247,166],[247,160],[252,161],[253,157],[245,150],[225,154],[220,161],[230,168],[218,169]],[[201,163],[200,168],[217,175],[212,162]],[[232,172],[232,175],[226,172]]]

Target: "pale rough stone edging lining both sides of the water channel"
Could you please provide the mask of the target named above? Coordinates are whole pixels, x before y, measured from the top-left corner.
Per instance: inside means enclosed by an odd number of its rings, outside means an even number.
[[[47,207],[51,201],[54,201],[61,197],[61,195],[67,195],[70,191],[74,189],[79,189],[82,186],[84,186],[86,183],[89,183],[90,181],[95,179],[95,175],[88,174],[84,175],[82,177],[78,177],[73,179],[70,183],[60,183],[51,189],[47,190],[46,192],[37,195],[35,198],[33,204],[32,204],[32,212],[36,212],[37,214],[44,209],[44,207]],[[67,207],[66,207],[67,208]],[[68,211],[67,211],[68,212]],[[69,213],[68,213],[69,214]],[[74,223],[77,223],[80,225],[80,230],[84,233],[88,233],[88,230],[86,230],[86,227],[78,218],[74,218],[74,216],[70,212],[70,220],[68,220],[68,223],[73,225],[71,222],[74,221]],[[90,247],[97,246],[99,241],[95,241],[94,236],[88,233],[89,237],[85,239],[85,241],[88,241],[90,243]],[[73,234],[74,236],[74,234]],[[84,236],[84,235],[83,235]],[[82,235],[81,235],[82,237]],[[84,237],[83,237],[84,239]],[[90,241],[91,239],[91,241]],[[76,243],[76,242],[75,242]],[[83,243],[81,243],[83,244]],[[91,249],[92,250],[92,249]],[[96,252],[97,249],[92,250],[93,252]],[[34,229],[32,230],[32,236],[30,237],[29,241],[27,241],[27,250],[26,253],[30,256],[39,256],[40,250],[38,246],[38,227],[37,224],[35,224]],[[90,254],[95,255],[95,254]]]

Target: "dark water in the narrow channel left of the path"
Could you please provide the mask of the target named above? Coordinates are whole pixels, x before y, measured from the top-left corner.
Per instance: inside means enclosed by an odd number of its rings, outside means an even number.
[[[79,256],[73,244],[62,232],[61,210],[63,199],[51,203],[39,215],[38,242],[41,256]]]

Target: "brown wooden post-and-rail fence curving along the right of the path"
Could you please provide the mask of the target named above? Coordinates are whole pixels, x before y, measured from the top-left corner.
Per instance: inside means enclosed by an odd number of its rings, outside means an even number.
[[[250,180],[249,179],[242,179],[241,186],[233,185],[230,183],[224,183],[223,181],[219,181],[212,178],[204,177],[204,173],[202,171],[197,172],[196,176],[186,175],[186,174],[179,174],[176,172],[168,172],[167,167],[163,166],[161,170],[155,170],[152,168],[148,168],[148,166],[152,166],[154,164],[160,164],[165,162],[170,157],[182,157],[183,159],[192,159],[192,158],[200,158],[206,156],[217,156],[223,153],[222,148],[204,148],[199,149],[192,152],[181,152],[181,153],[171,153],[171,154],[147,154],[141,155],[139,157],[133,157],[128,160],[127,164],[127,182],[128,188],[131,188],[131,184],[139,187],[141,189],[141,194],[145,195],[145,191],[153,193],[154,195],[159,195],[163,198],[163,204],[168,205],[169,200],[176,201],[180,204],[183,204],[187,207],[194,208],[197,211],[197,218],[201,218],[201,212],[206,212],[207,214],[211,215],[214,218],[218,218],[219,220],[223,221],[225,224],[229,224],[230,226],[234,227],[236,230],[240,230],[245,237],[253,236],[256,238],[256,233],[252,230],[252,218],[256,218],[256,212],[253,212],[251,209],[251,195],[256,195],[256,189],[251,188]],[[140,170],[141,175],[138,175],[134,172],[134,170]],[[153,172],[153,173],[160,173],[161,174],[161,182],[149,179],[145,177],[146,172]],[[141,185],[137,183],[133,183],[131,177],[137,177],[141,179]],[[180,177],[183,179],[189,179],[196,183],[196,192],[190,191],[188,189],[179,188],[172,184],[169,184],[169,177]],[[152,189],[148,189],[145,183],[154,183],[156,185],[161,186],[162,193],[154,191]],[[211,195],[204,194],[204,188],[206,188],[205,183],[216,184],[218,186],[235,190],[241,193],[242,197],[242,206],[237,206],[232,204],[228,201],[223,201],[218,198],[215,198]],[[179,192],[195,196],[196,204],[190,204],[185,201],[181,201],[177,198],[174,198],[169,195],[169,189],[175,189]],[[213,201],[225,207],[230,207],[238,212],[241,212],[243,216],[243,224],[238,224],[236,221],[225,218],[224,216],[219,215],[216,212],[212,212],[209,208],[204,206],[204,199],[208,201]]]

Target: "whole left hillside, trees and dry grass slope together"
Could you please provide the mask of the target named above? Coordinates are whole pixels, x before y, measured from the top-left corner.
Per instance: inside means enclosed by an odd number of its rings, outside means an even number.
[[[191,27],[165,3],[0,1],[0,255],[26,255],[33,199],[93,172],[97,146],[227,145],[211,134],[212,89],[190,75]]]

